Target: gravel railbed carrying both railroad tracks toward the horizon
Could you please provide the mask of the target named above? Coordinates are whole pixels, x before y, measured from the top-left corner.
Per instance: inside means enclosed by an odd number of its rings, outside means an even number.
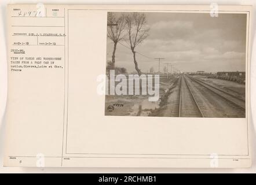
[[[151,116],[245,117],[244,94],[240,88],[234,89],[228,91],[216,82],[180,75],[165,105]]]

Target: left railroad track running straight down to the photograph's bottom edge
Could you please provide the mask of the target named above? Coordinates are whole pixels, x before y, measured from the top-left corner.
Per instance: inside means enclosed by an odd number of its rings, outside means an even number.
[[[198,101],[193,95],[185,77],[180,77],[180,94],[179,94],[178,117],[204,117]]]

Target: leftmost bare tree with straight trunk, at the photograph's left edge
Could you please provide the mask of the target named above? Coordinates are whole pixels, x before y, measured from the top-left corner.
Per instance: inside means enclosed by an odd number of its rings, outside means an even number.
[[[120,40],[125,38],[125,16],[121,14],[116,17],[114,13],[108,12],[108,38],[114,42],[114,49],[112,53],[112,68],[115,68],[115,52],[116,45]]]

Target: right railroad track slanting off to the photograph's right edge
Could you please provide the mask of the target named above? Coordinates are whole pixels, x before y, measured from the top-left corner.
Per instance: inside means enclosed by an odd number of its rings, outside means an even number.
[[[217,94],[219,97],[224,98],[227,102],[229,102],[229,105],[233,106],[234,108],[239,108],[239,109],[243,109],[243,110],[246,109],[244,99],[235,97],[234,95],[229,94],[228,92],[221,90],[220,88],[211,86],[210,84],[207,84],[207,83],[203,82],[202,80],[196,79],[195,77],[188,76],[188,75],[187,75],[187,77],[189,79],[193,80],[193,82],[200,84],[200,86],[203,86],[203,87],[207,88],[208,90],[210,90],[211,92],[214,92],[214,94]]]

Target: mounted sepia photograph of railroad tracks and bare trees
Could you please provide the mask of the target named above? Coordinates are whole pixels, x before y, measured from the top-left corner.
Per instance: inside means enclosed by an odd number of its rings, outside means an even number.
[[[246,117],[243,13],[108,12],[105,116]]]

